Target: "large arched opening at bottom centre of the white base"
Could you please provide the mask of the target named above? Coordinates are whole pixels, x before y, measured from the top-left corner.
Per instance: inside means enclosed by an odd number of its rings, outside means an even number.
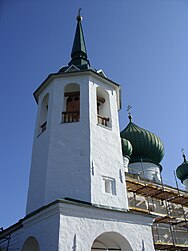
[[[106,232],[99,235],[93,242],[91,251],[133,251],[129,242],[119,233]]]

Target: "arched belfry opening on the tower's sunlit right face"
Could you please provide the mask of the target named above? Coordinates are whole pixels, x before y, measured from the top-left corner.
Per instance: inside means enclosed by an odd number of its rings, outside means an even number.
[[[109,94],[101,87],[97,87],[97,121],[99,125],[112,126]]]

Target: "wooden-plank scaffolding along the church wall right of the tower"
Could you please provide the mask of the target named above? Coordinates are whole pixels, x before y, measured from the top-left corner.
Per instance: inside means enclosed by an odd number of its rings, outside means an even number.
[[[155,250],[188,250],[188,192],[126,173],[129,209],[154,216]]]

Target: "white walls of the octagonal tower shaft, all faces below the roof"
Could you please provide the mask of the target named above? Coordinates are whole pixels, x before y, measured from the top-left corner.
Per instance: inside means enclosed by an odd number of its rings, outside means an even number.
[[[62,123],[64,87],[80,85],[80,121]],[[97,125],[96,88],[109,94],[111,128]],[[91,74],[65,74],[39,95],[26,214],[65,197],[128,208],[117,96],[113,85]],[[40,105],[49,94],[47,129],[38,135]],[[103,191],[102,177],[115,180],[116,195]]]

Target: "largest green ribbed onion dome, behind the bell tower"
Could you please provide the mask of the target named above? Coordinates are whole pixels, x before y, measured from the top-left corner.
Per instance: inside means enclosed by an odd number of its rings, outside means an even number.
[[[132,116],[129,116],[129,119],[129,124],[120,135],[121,138],[129,140],[132,145],[130,163],[142,160],[158,165],[164,156],[164,145],[161,139],[154,133],[132,123]]]

